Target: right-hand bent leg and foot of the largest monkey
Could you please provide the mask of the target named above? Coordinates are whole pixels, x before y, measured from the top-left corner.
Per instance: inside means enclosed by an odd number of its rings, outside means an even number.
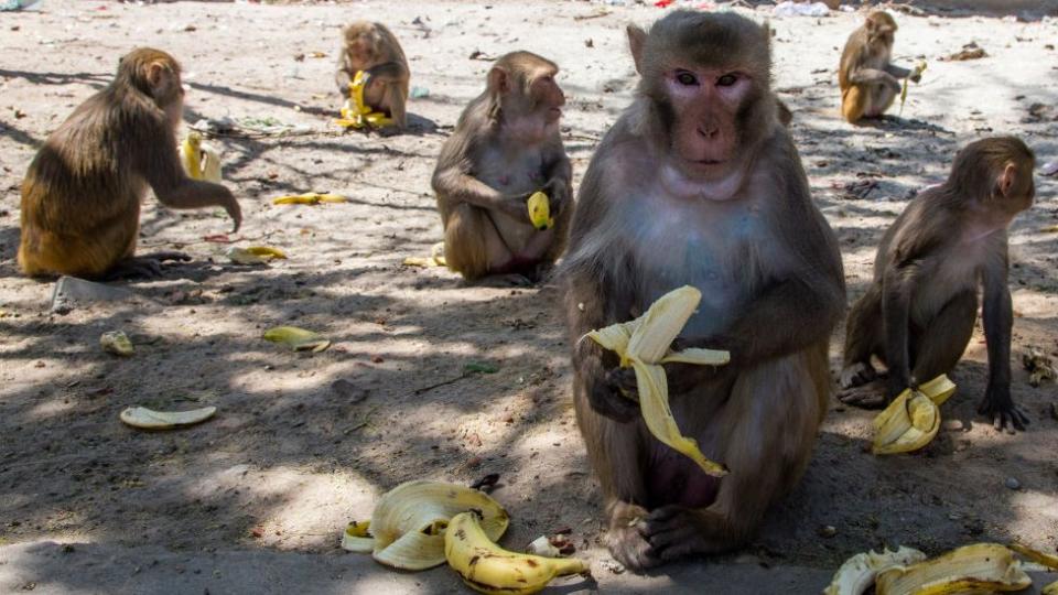
[[[829,392],[825,343],[739,372],[719,416],[705,422],[704,433],[694,432],[703,444],[719,446],[709,451],[720,453],[731,473],[705,508],[651,510],[637,526],[650,543],[648,554],[668,561],[745,543],[808,466]]]

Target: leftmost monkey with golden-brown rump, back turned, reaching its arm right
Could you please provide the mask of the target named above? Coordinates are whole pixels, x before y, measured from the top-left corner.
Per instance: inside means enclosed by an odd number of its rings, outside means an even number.
[[[187,177],[180,163],[183,106],[172,56],[140,47],[121,57],[114,82],[74,110],[25,173],[19,245],[25,274],[150,277],[161,272],[161,260],[190,260],[181,252],[133,257],[148,186],[171,208],[223,207],[239,229],[231,192]]]

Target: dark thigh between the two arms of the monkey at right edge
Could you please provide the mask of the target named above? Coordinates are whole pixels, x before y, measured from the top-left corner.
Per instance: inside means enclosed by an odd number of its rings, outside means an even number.
[[[978,318],[978,294],[956,294],[911,342],[911,381],[928,382],[950,372],[973,335]]]

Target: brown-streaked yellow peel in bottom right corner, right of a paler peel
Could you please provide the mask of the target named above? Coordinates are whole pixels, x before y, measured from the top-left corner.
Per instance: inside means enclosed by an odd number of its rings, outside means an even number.
[[[877,595],[940,595],[972,589],[1021,591],[1032,584],[1014,552],[997,543],[974,543],[881,572],[875,589]]]

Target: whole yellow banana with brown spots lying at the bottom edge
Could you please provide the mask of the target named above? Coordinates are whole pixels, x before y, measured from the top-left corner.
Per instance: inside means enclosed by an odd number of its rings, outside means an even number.
[[[482,530],[476,510],[452,517],[444,532],[444,558],[478,593],[537,593],[555,576],[579,574],[587,565],[575,558],[544,558],[507,551]]]

